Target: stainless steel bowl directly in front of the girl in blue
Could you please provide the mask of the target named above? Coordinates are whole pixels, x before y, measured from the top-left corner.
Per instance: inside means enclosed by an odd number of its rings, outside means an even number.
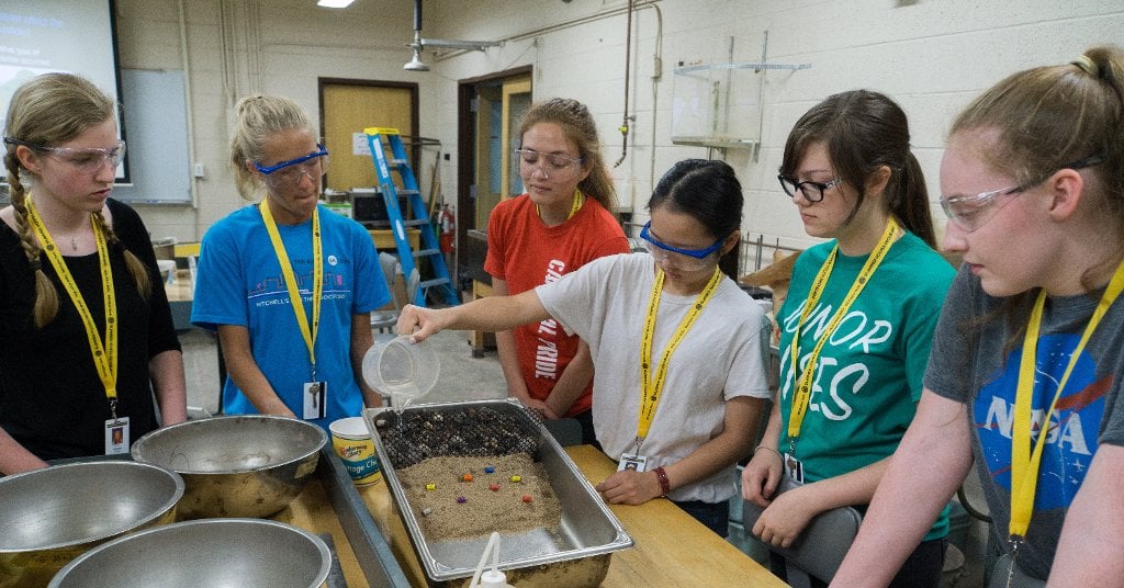
[[[305,488],[327,441],[303,420],[224,416],[153,431],[133,444],[133,459],[183,477],[180,519],[268,517]]]

